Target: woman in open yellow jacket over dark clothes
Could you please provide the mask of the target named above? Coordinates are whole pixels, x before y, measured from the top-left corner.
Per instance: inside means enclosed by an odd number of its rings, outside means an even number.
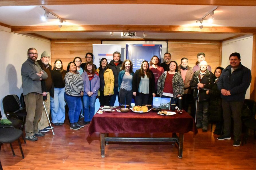
[[[106,58],[101,58],[100,67],[96,70],[100,77],[99,100],[101,106],[109,106],[110,96],[114,94],[115,78],[113,71],[108,68]]]

